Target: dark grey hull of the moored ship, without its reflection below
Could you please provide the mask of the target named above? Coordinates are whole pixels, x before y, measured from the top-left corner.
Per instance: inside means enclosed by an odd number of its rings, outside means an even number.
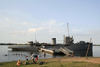
[[[71,45],[48,45],[45,46],[46,49],[48,48],[60,48],[60,47],[66,47],[72,51],[87,51],[89,44],[71,44]],[[90,44],[89,50],[92,51],[92,43]]]

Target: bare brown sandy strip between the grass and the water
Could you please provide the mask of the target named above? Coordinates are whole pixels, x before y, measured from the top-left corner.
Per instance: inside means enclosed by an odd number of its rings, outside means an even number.
[[[44,61],[85,61],[90,63],[97,63],[100,64],[100,57],[62,57],[62,58],[51,58],[51,59],[44,59]]]

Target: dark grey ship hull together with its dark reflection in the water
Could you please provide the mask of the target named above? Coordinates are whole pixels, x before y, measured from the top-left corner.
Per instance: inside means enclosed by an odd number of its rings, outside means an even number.
[[[52,46],[45,46],[46,49],[59,49],[60,47],[66,47],[72,51],[74,51],[74,56],[85,56],[87,49],[88,49],[89,43],[88,44],[71,44],[71,45],[52,45]],[[92,43],[90,44],[88,55],[87,56],[93,56],[92,55]]]

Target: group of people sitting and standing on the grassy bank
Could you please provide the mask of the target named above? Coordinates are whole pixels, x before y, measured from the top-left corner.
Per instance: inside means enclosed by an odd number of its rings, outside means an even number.
[[[22,62],[20,61],[20,59],[18,59],[18,61],[17,61],[17,66],[20,66],[20,65],[22,65],[22,64],[24,64],[24,65],[27,65],[27,64],[36,64],[36,63],[39,62],[39,61],[38,61],[38,56],[37,56],[37,55],[31,54],[31,58],[32,58],[32,62],[31,62],[31,63],[29,63],[28,59],[26,59],[26,61],[25,61],[24,63],[22,63]],[[35,60],[34,60],[34,59],[35,59]]]

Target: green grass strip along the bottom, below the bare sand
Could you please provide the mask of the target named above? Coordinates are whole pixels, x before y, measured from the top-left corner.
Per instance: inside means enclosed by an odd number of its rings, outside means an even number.
[[[66,58],[64,58],[66,59]],[[60,61],[57,59],[45,59],[40,60],[40,62],[45,62],[43,65],[37,64],[29,64],[29,65],[21,65],[19,67],[100,67],[100,64],[90,63],[85,61]],[[23,63],[24,61],[22,61]],[[30,60],[30,62],[32,62]],[[16,61],[12,62],[3,62],[0,63],[0,67],[18,67],[16,66]]]

